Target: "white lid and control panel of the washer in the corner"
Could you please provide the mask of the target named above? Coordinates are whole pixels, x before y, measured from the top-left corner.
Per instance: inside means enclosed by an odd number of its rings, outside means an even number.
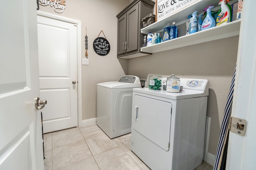
[[[122,76],[117,82],[103,82],[98,83],[97,86],[106,88],[140,88],[140,78],[137,76]]]

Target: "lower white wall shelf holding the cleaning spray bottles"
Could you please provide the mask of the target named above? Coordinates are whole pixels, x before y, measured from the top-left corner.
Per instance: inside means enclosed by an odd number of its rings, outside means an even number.
[[[186,47],[189,45],[195,45],[199,43],[205,43],[208,41],[214,41],[218,39],[233,37],[233,36],[239,35],[240,23],[241,23],[241,20],[232,21],[230,23],[205,29],[203,31],[199,31],[189,35],[184,35],[176,39],[150,45],[148,47],[142,47],[141,51],[146,53],[157,53],[160,51],[177,49],[177,48]]]

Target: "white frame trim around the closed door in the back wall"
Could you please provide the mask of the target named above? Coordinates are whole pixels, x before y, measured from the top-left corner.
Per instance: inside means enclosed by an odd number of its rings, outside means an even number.
[[[58,16],[48,12],[37,11],[38,16],[64,21],[77,25],[77,97],[78,97],[78,127],[82,127],[82,67],[81,67],[81,21]]]

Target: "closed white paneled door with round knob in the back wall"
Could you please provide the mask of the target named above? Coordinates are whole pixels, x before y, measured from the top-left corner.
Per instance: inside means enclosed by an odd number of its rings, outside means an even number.
[[[40,96],[44,133],[78,125],[77,27],[38,16]]]

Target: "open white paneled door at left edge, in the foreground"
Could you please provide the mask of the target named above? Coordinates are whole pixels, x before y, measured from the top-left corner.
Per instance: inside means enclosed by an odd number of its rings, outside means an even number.
[[[43,170],[34,0],[0,7],[0,170]]]

